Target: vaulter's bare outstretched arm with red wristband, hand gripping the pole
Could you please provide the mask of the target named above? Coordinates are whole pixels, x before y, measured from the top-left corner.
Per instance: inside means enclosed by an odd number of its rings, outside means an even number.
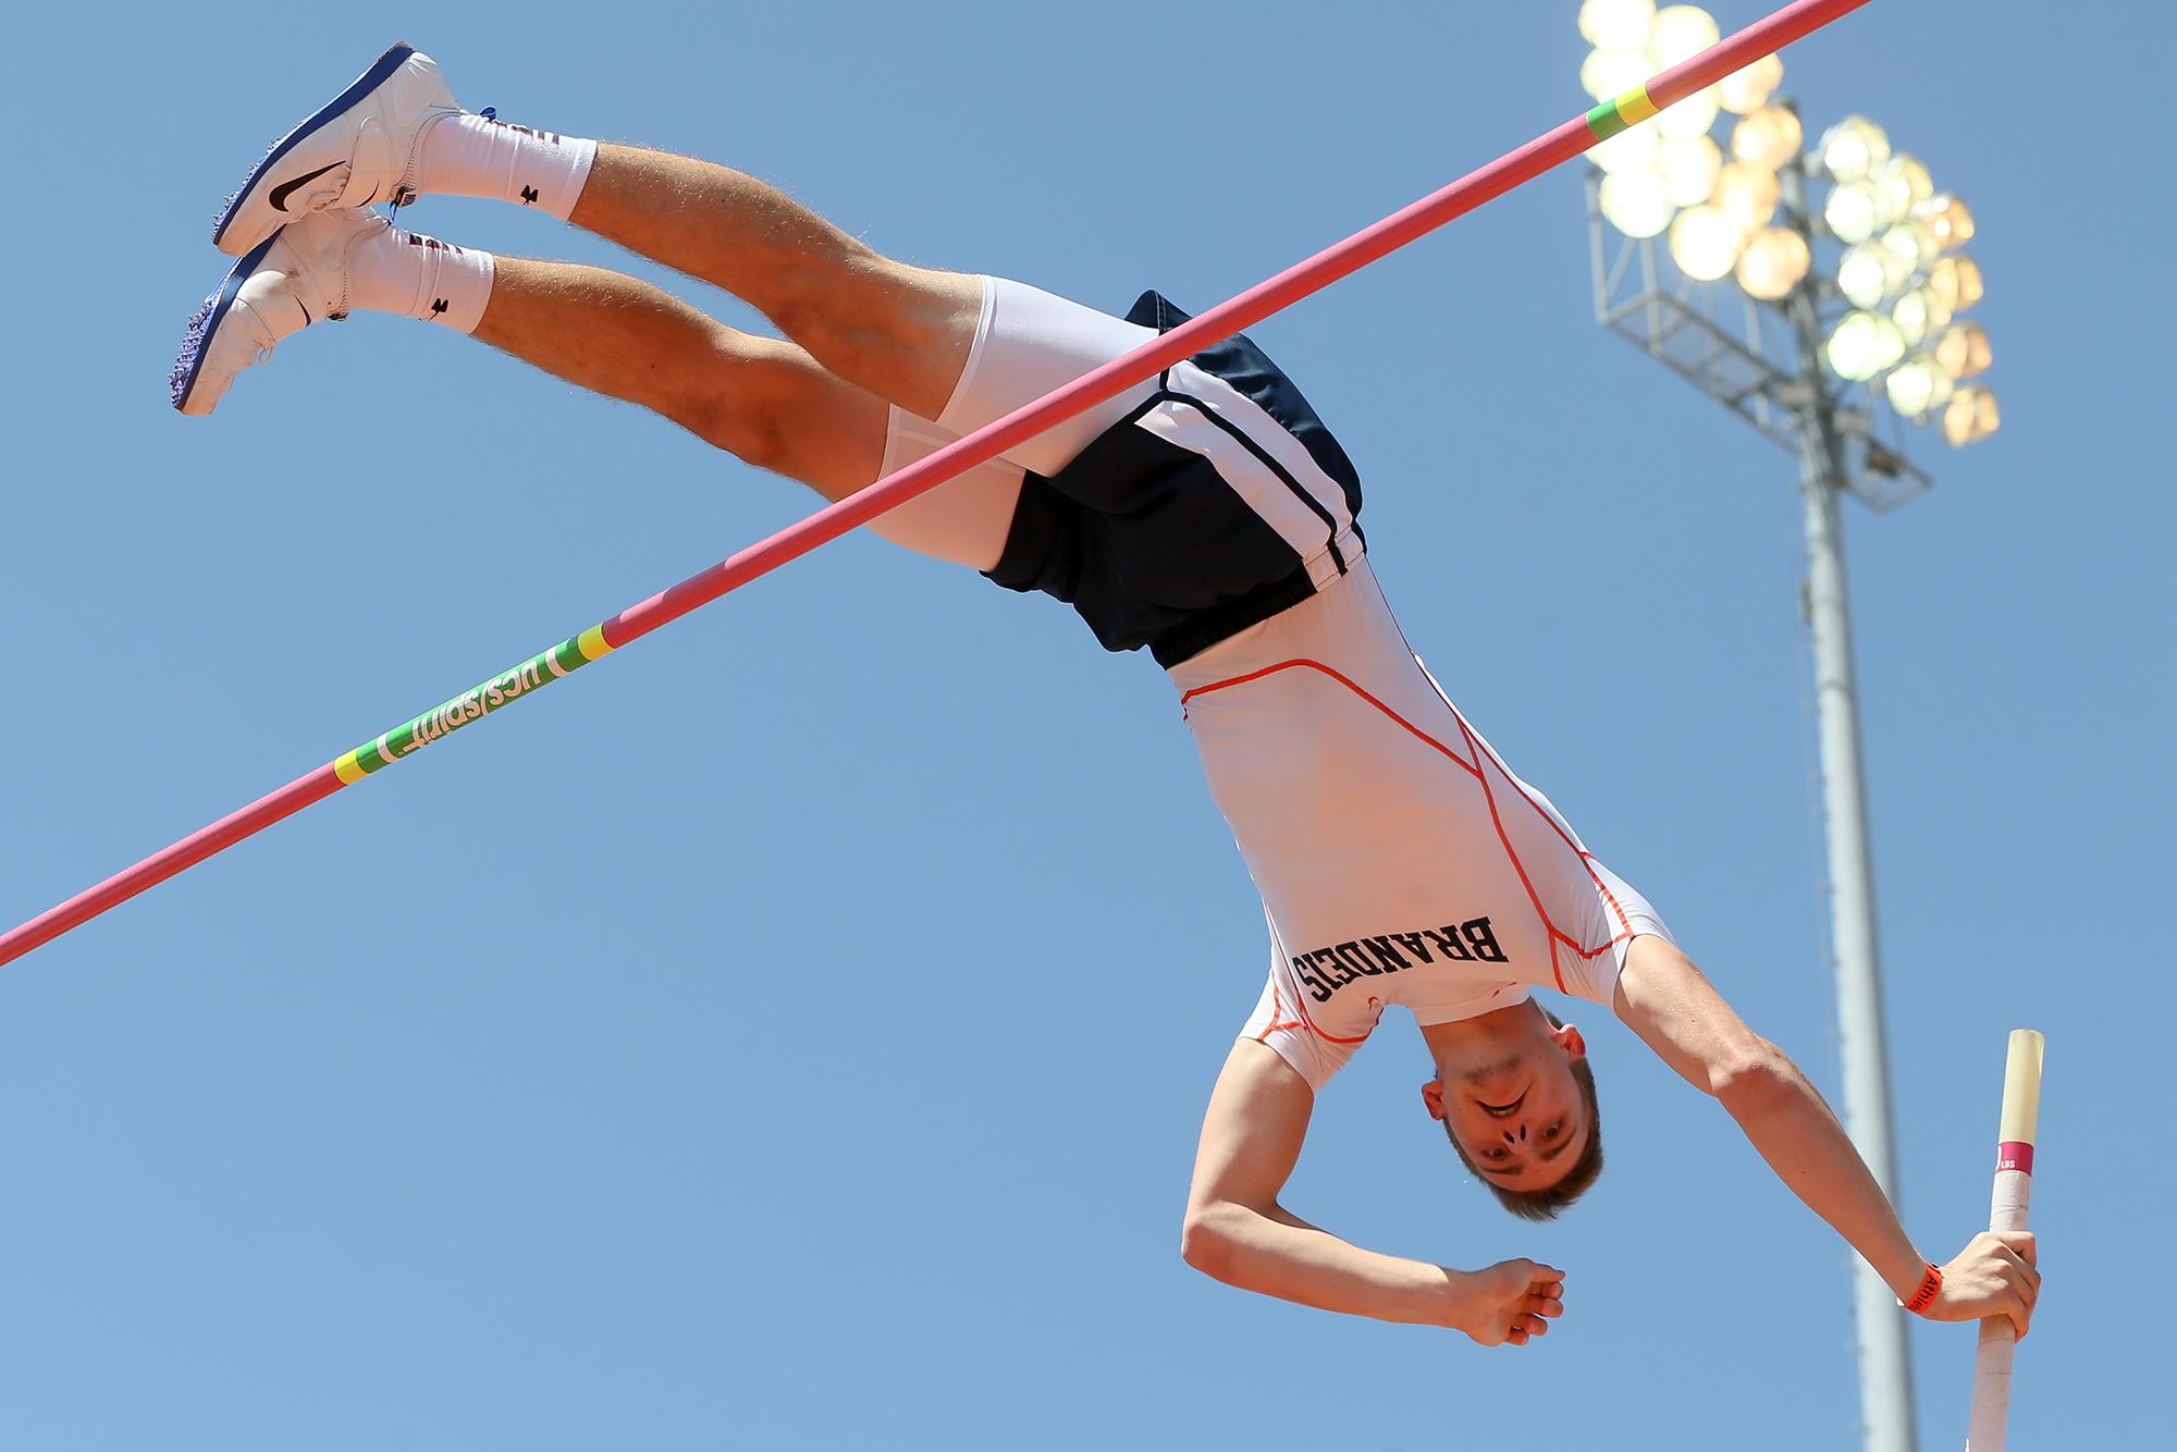
[[[1829,1104],[1783,1049],[1746,1028],[1685,953],[1668,938],[1635,938],[1615,1008],[1663,1062],[1724,1106],[1776,1178],[1866,1256],[1898,1300],[1920,1289],[1927,1260]],[[1981,1232],[1942,1267],[1942,1295],[1927,1315],[2007,1315],[2025,1334],[2038,1293],[2033,1236]]]

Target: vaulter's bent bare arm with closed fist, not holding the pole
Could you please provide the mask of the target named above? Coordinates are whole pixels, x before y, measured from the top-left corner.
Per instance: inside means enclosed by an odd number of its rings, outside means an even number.
[[[1563,1271],[1504,1260],[1454,1271],[1348,1245],[1278,1204],[1308,1134],[1315,1091],[1276,1049],[1241,1038],[1226,1058],[1195,1152],[1182,1254],[1206,1276],[1302,1306],[1450,1326],[1483,1345],[1548,1330]]]

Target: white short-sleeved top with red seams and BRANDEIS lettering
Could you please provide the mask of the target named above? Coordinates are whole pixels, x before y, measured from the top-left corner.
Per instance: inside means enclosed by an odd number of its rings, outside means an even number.
[[[1321,1088],[1389,1004],[1598,1004],[1655,908],[1511,775],[1406,647],[1367,566],[1171,673],[1269,916],[1243,1036]]]

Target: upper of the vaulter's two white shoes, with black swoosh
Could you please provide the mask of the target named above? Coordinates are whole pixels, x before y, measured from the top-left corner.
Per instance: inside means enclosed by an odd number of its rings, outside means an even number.
[[[394,46],[272,144],[220,207],[211,246],[242,257],[311,211],[407,200],[425,126],[459,109],[431,57],[407,41]]]

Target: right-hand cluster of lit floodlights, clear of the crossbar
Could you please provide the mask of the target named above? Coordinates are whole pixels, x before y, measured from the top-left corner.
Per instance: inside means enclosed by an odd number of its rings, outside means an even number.
[[[1959,318],[1981,300],[1981,268],[1959,250],[1972,211],[1864,115],[1824,131],[1816,155],[1831,181],[1822,220],[1844,244],[1837,292],[1853,305],[1822,350],[1831,370],[1879,379],[1890,407],[1914,422],[1942,418],[1953,444],[1988,438],[2003,422],[1996,394],[1970,379],[1994,355],[1988,331]]]

